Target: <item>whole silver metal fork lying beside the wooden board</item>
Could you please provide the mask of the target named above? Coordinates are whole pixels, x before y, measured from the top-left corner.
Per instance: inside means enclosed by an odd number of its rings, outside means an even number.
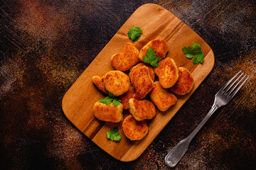
[[[238,76],[240,74],[240,76]],[[219,91],[215,94],[215,100],[213,103],[212,108],[210,109],[209,113],[206,115],[205,118],[201,121],[201,123],[196,127],[193,132],[191,132],[188,137],[178,142],[178,144],[174,147],[174,149],[166,155],[164,161],[167,166],[174,167],[178,162],[181,160],[183,155],[188,150],[188,145],[190,144],[193,137],[197,134],[197,132],[203,127],[206,121],[210,118],[210,116],[217,111],[218,108],[221,106],[225,106],[235,94],[238,93],[239,89],[242,87],[243,84],[249,79],[246,77],[246,74],[242,77],[243,72],[238,72],[235,76],[230,79]],[[235,79],[238,77],[237,79]],[[242,77],[242,78],[241,78]],[[241,78],[241,79],[240,79]],[[240,80],[239,80],[240,79]],[[238,81],[239,80],[239,81]]]

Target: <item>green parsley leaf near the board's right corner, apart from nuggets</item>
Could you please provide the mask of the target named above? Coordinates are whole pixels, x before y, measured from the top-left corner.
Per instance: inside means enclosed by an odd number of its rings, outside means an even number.
[[[193,48],[192,48],[193,47]],[[201,50],[201,45],[193,43],[193,45],[188,47],[183,47],[182,50],[188,59],[193,58],[193,64],[203,64],[203,52]]]

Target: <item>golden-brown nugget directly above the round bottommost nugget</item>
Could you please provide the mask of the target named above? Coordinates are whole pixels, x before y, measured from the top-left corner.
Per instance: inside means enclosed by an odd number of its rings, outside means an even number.
[[[141,121],[154,118],[156,115],[156,107],[151,101],[137,101],[135,98],[129,99],[129,112],[134,119]]]

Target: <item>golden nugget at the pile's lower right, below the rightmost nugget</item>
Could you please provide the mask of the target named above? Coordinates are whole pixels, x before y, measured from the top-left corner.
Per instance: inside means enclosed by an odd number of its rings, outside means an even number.
[[[177,101],[176,96],[168,89],[164,89],[159,81],[154,82],[154,87],[150,91],[149,96],[159,111],[166,111]]]

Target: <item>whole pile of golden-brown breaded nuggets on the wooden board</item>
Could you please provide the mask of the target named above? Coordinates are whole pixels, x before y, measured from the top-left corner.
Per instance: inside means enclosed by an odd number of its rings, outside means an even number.
[[[143,56],[149,47],[156,52],[156,57],[161,57],[159,67],[144,63]],[[191,72],[177,67],[173,59],[166,57],[167,52],[164,40],[151,40],[140,52],[132,43],[127,43],[122,52],[113,55],[111,63],[115,70],[103,77],[94,76],[92,81],[102,92],[110,92],[122,103],[115,107],[113,103],[106,105],[97,101],[92,109],[95,117],[118,123],[123,120],[123,109],[129,109],[130,115],[122,122],[124,135],[130,140],[145,137],[148,133],[146,120],[154,118],[156,108],[168,110],[177,101],[175,94],[185,95],[193,87]],[[150,99],[147,100],[148,94]]]

